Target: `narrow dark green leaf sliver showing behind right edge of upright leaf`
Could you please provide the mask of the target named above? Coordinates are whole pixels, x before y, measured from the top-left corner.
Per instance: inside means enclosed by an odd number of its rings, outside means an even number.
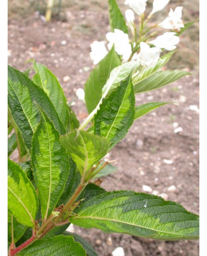
[[[61,197],[58,201],[58,206],[61,205],[62,203],[65,203],[70,198],[70,195],[71,195],[71,192],[72,192],[72,187],[75,183],[76,164],[72,160],[71,156],[69,156],[69,165],[70,165],[70,169],[69,169],[68,178],[67,178],[67,181],[65,183],[65,187],[64,187],[64,190],[62,192],[62,195],[61,195]]]

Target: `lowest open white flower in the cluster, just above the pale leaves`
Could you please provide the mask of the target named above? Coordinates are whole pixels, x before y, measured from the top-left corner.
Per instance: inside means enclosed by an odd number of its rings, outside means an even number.
[[[154,65],[158,61],[160,53],[162,52],[160,48],[150,48],[150,46],[144,42],[140,43],[140,49],[141,51],[138,54],[136,61],[138,61],[142,66]]]

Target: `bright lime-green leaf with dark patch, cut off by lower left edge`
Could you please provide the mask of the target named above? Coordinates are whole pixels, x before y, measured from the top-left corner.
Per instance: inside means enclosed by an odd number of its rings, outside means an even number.
[[[30,195],[28,197],[28,195]],[[8,209],[19,223],[33,227],[38,197],[21,167],[8,159]]]

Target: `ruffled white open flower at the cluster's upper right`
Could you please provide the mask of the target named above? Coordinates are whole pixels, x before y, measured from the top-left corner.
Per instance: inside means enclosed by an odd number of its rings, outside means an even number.
[[[158,26],[164,29],[171,29],[175,30],[176,32],[180,32],[180,28],[184,28],[183,21],[181,20],[182,9],[183,6],[176,7],[175,11],[170,9],[168,17],[165,19],[165,21],[159,23]]]

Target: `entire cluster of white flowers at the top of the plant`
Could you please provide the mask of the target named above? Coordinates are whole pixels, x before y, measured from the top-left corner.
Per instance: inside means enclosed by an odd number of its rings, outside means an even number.
[[[145,25],[155,12],[163,10],[170,0],[154,0],[153,9],[145,20],[145,9],[147,0],[125,0],[124,4],[128,5],[130,9],[125,11],[126,24],[132,32],[132,40],[129,35],[122,30],[114,29],[114,32],[108,32],[106,39],[108,41],[107,47],[105,42],[94,41],[91,43],[90,57],[93,64],[98,64],[108,53],[113,45],[116,53],[122,56],[123,62],[136,60],[141,66],[148,67],[155,64],[160,58],[163,50],[172,51],[176,49],[176,44],[179,43],[179,37],[176,32],[184,27],[181,20],[182,6],[176,7],[175,11],[170,9],[168,17],[150,28],[145,30]],[[137,32],[135,23],[135,14],[139,16],[139,31]],[[149,38],[154,37],[154,34],[147,33],[153,28],[163,28],[171,30],[162,35],[157,36],[154,40],[147,41]]]

